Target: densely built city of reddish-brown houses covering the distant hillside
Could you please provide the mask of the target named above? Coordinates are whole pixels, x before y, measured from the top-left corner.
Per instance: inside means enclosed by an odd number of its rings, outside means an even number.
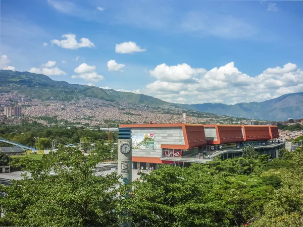
[[[14,93],[0,93],[0,105],[15,104],[22,106],[22,115],[29,121],[34,120],[44,125],[53,125],[54,122],[43,120],[43,117],[51,117],[58,121],[68,121],[75,125],[108,126],[108,123],[134,123],[148,124],[154,122],[163,123],[192,123],[192,124],[241,124],[254,120],[245,120],[228,116],[218,116],[212,113],[202,113],[183,109],[177,106],[149,106],[135,105],[126,102],[110,102],[96,98],[82,98],[77,101],[44,101],[31,100],[28,97]],[[185,113],[185,114],[183,114]],[[17,124],[22,118],[5,118],[4,110],[0,118],[3,122]],[[42,118],[42,119],[41,119]],[[266,124],[269,122],[263,121]]]

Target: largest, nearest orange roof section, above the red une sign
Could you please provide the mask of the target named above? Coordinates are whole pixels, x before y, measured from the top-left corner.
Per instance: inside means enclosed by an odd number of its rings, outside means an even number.
[[[199,124],[132,124],[120,125],[119,128],[168,128],[181,127],[185,145],[161,144],[161,148],[187,150],[206,144],[204,126]]]

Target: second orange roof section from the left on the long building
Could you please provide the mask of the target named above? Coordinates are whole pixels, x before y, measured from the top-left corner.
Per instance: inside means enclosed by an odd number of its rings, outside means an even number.
[[[205,128],[216,129],[217,141],[208,140],[210,144],[225,144],[244,141],[240,125],[204,125]]]

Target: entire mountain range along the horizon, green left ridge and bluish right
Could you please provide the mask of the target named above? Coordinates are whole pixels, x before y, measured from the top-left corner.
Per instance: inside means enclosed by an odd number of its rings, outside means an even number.
[[[113,102],[122,101],[151,106],[173,105],[172,103],[144,94],[69,84],[65,81],[54,81],[45,75],[29,72],[13,72],[11,70],[0,71],[0,92],[18,92],[20,95],[42,101],[51,99],[70,101],[80,97],[92,97]],[[247,119],[285,121],[288,118],[303,118],[303,92],[286,94],[263,102],[242,102],[234,105],[222,103],[175,105],[200,112]]]

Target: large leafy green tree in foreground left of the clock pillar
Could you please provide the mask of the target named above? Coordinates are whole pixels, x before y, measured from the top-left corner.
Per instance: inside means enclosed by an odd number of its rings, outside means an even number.
[[[95,176],[95,155],[84,156],[75,148],[60,148],[40,161],[25,158],[32,180],[0,186],[1,226],[117,226],[125,196],[117,188],[115,173]],[[55,175],[50,175],[52,169]]]

